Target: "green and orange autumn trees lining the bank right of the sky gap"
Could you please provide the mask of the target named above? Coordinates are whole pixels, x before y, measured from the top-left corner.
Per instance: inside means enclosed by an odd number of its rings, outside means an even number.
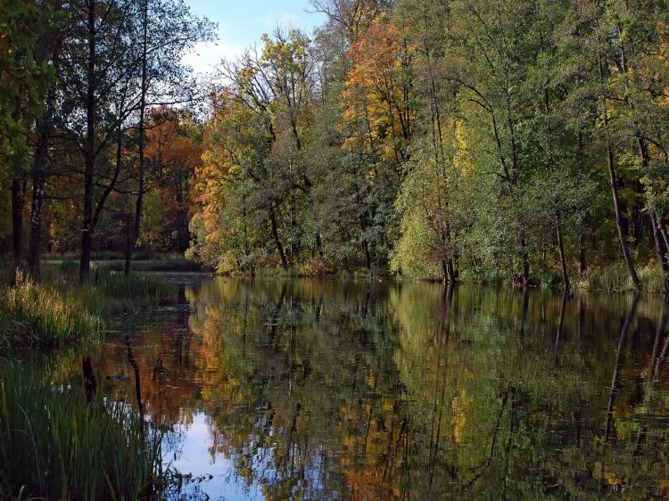
[[[312,4],[221,66],[193,256],[667,290],[665,2]]]

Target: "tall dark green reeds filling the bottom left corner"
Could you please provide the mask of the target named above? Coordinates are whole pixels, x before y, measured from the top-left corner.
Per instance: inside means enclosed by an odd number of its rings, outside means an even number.
[[[0,498],[159,498],[161,439],[132,408],[38,374],[13,362],[0,372]]]

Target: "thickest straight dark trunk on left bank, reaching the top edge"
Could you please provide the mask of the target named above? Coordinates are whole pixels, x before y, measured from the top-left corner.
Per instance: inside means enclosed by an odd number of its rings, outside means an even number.
[[[84,145],[84,221],[81,228],[81,256],[79,259],[79,282],[88,280],[93,246],[93,177],[95,176],[95,0],[88,2],[88,54],[86,94],[86,144]]]

